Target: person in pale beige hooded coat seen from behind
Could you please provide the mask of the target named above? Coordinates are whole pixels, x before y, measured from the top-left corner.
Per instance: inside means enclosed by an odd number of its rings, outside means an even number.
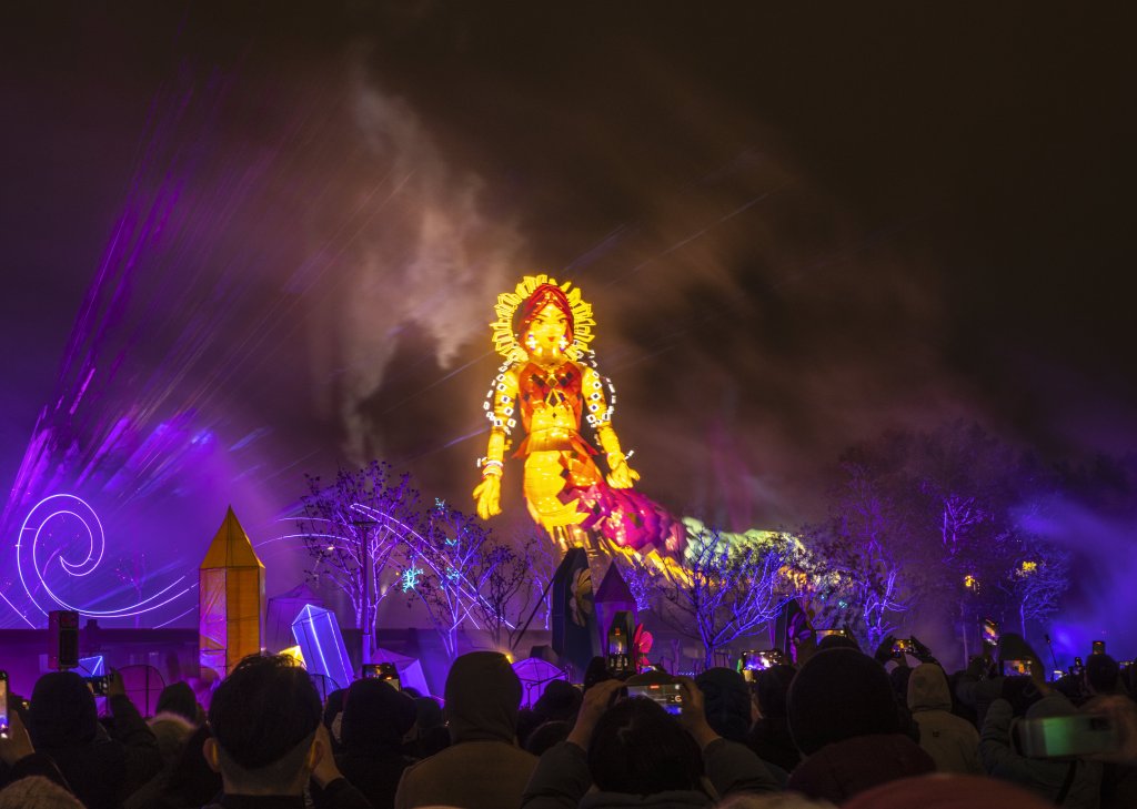
[[[912,669],[908,710],[920,728],[920,747],[931,756],[937,772],[984,774],[979,766],[979,732],[952,714],[947,676],[937,664],[926,662]]]

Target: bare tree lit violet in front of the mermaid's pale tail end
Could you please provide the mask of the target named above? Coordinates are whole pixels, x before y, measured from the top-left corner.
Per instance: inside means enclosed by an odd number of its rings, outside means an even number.
[[[782,575],[787,550],[778,544],[735,542],[712,528],[689,527],[688,541],[687,575],[661,573],[655,586],[663,620],[698,640],[703,662],[709,667],[716,650],[756,634],[789,600]]]

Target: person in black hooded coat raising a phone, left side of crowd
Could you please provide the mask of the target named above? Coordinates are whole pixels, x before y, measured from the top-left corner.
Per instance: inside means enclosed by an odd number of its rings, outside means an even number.
[[[114,737],[99,724],[94,695],[83,678],[51,672],[35,683],[27,716],[35,749],[55,760],[88,809],[117,809],[161,769],[158,740],[126,698],[117,673],[109,675],[107,701]]]

